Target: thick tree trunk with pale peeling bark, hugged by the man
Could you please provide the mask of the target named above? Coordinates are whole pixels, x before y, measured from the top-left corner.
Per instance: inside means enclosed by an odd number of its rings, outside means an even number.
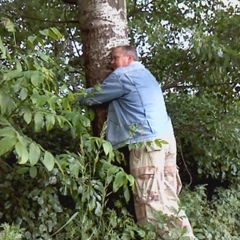
[[[129,44],[126,0],[77,0],[85,61],[86,85],[101,83],[112,71],[110,53]],[[94,133],[99,135],[106,120],[107,105],[95,109]]]

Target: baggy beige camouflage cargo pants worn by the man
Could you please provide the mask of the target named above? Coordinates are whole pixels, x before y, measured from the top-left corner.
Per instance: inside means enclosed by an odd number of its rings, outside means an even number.
[[[166,139],[168,144],[159,147],[155,141],[136,144],[130,152],[130,173],[134,176],[134,206],[137,221],[144,225],[156,221],[153,209],[161,211],[192,233],[184,211],[179,211],[178,194],[181,180],[176,165],[176,141],[174,136]],[[177,215],[176,215],[177,214]],[[166,224],[168,225],[168,224]]]

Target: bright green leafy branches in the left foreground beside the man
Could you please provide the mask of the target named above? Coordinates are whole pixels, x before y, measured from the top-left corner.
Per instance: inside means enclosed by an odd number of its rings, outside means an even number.
[[[8,30],[15,34],[14,27]],[[1,221],[14,219],[26,239],[59,239],[77,213],[86,221],[102,217],[107,194],[123,187],[127,200],[133,184],[112,164],[122,155],[104,140],[104,131],[99,138],[89,134],[94,115],[79,106],[81,91],[74,93],[64,75],[55,81],[59,65],[44,53],[45,36],[62,37],[45,29],[14,52],[1,42]]]

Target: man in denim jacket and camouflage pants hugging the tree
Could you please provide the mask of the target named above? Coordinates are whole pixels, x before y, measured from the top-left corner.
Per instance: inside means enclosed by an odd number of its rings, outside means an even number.
[[[191,225],[178,207],[176,142],[161,88],[154,76],[139,61],[133,46],[119,46],[112,52],[114,71],[103,81],[101,91],[87,89],[81,98],[86,105],[109,102],[107,140],[114,148],[131,146],[129,165],[134,176],[134,205],[139,224],[156,222],[154,212],[169,216],[169,223]],[[161,142],[164,140],[164,142]],[[163,143],[163,144],[161,144]],[[166,224],[164,231],[171,224]]]

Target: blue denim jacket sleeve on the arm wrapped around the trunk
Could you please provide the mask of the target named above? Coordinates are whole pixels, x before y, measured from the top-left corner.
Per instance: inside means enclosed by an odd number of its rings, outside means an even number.
[[[109,102],[124,94],[122,83],[115,73],[111,73],[103,83],[100,84],[100,90],[97,91],[95,88],[87,88],[86,93],[87,96],[80,97],[79,102],[88,106]]]

